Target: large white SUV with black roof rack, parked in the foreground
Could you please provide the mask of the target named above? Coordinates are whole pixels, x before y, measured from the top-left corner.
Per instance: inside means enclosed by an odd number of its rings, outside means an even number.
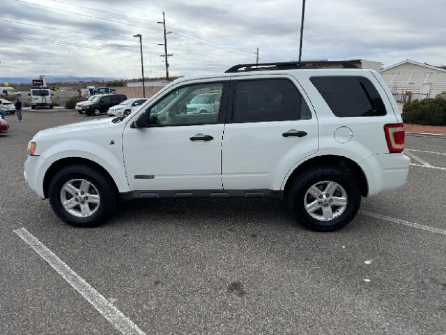
[[[221,92],[218,109],[188,113]],[[361,196],[401,187],[404,128],[375,71],[347,62],[244,64],[174,81],[130,116],[60,126],[29,143],[25,179],[73,226],[97,226],[119,199],[274,197],[333,231]]]

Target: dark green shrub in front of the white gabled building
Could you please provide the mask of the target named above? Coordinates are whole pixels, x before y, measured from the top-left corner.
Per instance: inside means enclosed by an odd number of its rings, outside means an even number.
[[[417,125],[446,126],[446,100],[424,99],[403,107],[403,121]]]

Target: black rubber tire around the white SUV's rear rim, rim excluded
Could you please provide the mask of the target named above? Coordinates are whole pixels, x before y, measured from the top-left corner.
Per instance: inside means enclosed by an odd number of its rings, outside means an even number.
[[[299,173],[293,181],[288,193],[289,208],[296,214],[297,222],[311,230],[328,232],[347,226],[355,218],[361,205],[361,193],[354,173],[335,166],[324,165]],[[305,194],[311,186],[318,182],[334,181],[347,193],[347,207],[338,217],[329,221],[320,221],[307,213],[304,205]]]

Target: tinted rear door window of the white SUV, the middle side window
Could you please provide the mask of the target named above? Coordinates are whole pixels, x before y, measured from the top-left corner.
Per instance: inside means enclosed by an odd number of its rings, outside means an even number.
[[[235,84],[233,122],[310,119],[310,109],[286,79],[240,80]]]

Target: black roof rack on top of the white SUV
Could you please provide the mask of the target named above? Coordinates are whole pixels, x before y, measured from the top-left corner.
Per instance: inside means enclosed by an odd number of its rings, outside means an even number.
[[[343,68],[343,69],[359,69],[351,62],[346,61],[308,61],[308,62],[283,62],[283,63],[254,63],[254,64],[238,64],[225,71],[245,72],[245,71],[265,71],[265,70],[292,70],[292,69],[327,69],[327,68]],[[243,70],[242,70],[243,69]]]

